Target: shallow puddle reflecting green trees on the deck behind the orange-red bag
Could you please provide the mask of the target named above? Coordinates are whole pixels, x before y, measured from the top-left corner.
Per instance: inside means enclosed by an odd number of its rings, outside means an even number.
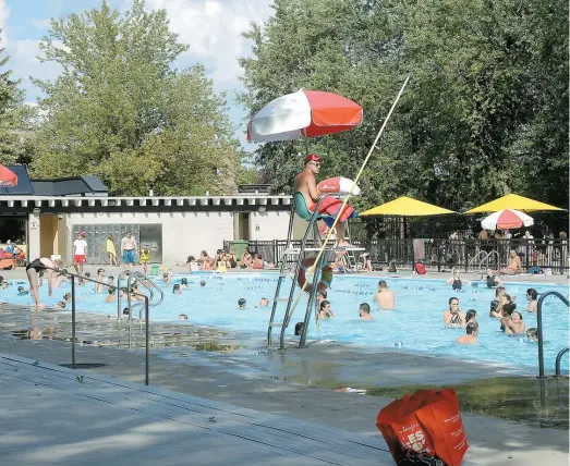
[[[541,403],[541,382],[544,383],[544,407]],[[543,381],[534,377],[496,377],[454,384],[452,388],[458,394],[459,406],[463,413],[568,430],[569,379],[567,377]],[[374,388],[366,393],[398,398],[425,389],[427,389],[425,385]]]

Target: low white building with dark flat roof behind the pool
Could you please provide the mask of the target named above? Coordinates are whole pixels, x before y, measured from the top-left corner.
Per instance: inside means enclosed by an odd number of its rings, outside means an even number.
[[[107,237],[112,235],[119,253],[128,232],[160,263],[185,262],[201,250],[214,255],[228,240],[287,237],[290,196],[248,189],[231,196],[109,197],[95,176],[29,180],[25,167],[9,168],[19,185],[0,189],[0,247],[24,240],[31,259],[59,254],[70,263],[80,231],[86,233],[89,263],[107,263]]]

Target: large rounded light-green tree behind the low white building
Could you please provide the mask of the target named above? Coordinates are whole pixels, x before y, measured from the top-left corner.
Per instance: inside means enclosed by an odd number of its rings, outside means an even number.
[[[121,16],[104,1],[52,21],[40,47],[63,72],[35,79],[47,96],[36,174],[97,174],[116,195],[233,189],[239,160],[225,96],[203,66],[172,69],[187,46],[169,32],[165,10],[147,13],[135,0]]]

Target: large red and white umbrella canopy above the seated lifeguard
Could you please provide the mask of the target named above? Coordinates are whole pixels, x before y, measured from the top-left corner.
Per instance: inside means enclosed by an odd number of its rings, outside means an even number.
[[[247,124],[247,140],[268,143],[341,133],[362,122],[362,107],[323,90],[300,90],[267,103]]]

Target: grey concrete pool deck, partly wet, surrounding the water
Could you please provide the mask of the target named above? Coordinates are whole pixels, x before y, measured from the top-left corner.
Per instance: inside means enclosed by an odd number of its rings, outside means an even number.
[[[114,268],[106,270],[117,274]],[[23,269],[2,274],[24,279]],[[566,275],[524,279],[568,284]],[[94,322],[102,326],[99,332],[112,326],[101,323],[100,316],[80,312],[78,318],[82,338],[93,336],[88,328]],[[153,348],[147,388],[142,384],[141,350],[78,345],[77,363],[104,366],[72,371],[59,366],[70,363],[70,343],[19,340],[10,332],[33,324],[66,331],[69,312],[29,312],[0,305],[0,320],[5,465],[389,465],[393,462],[375,421],[392,400],[333,391],[324,381],[342,380],[347,387],[352,381],[352,387],[362,387],[356,383],[367,380],[381,380],[384,387],[452,387],[510,371],[399,353],[363,354],[335,344],[269,352],[259,342],[245,341],[245,351],[229,353],[193,351],[192,345]],[[235,347],[244,343],[230,332],[208,330],[204,336],[203,330],[194,329],[203,332],[196,341],[214,338]],[[567,430],[464,413],[463,421],[471,444],[464,465],[569,464]]]

